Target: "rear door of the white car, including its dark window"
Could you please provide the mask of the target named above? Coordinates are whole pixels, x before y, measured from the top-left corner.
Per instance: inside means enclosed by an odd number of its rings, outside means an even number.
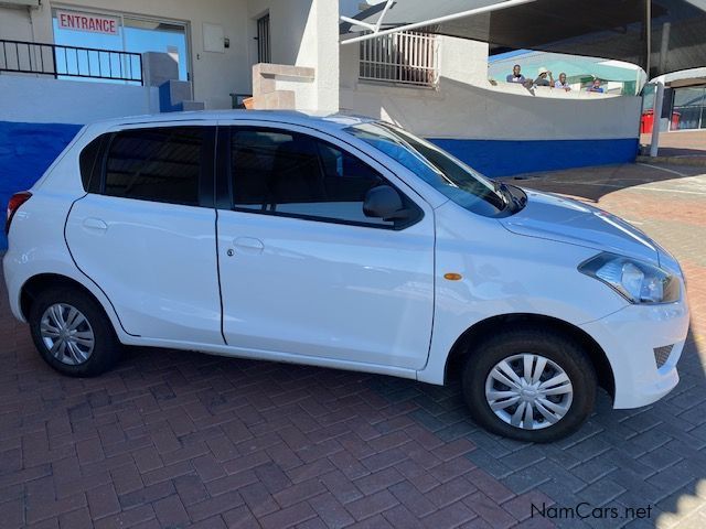
[[[204,121],[150,123],[97,140],[84,174],[88,193],[71,209],[66,241],[129,334],[223,345],[215,130]]]

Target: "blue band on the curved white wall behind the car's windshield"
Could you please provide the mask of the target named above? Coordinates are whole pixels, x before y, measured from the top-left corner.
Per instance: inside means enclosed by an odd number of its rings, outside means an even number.
[[[535,171],[632,163],[638,139],[620,140],[454,140],[431,142],[481,173],[510,176]]]

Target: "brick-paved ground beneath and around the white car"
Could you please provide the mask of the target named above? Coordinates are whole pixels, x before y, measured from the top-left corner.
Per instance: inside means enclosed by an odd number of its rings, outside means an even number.
[[[458,386],[167,350],[64,378],[0,292],[0,527],[704,527],[706,175],[670,171],[524,182],[657,238],[684,264],[694,312],[668,398],[612,411],[601,396],[589,423],[553,445],[480,431]],[[652,516],[530,517],[531,504],[581,501]]]

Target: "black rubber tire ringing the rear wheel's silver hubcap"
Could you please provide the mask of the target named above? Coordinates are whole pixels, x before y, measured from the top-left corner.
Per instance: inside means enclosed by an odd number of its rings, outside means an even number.
[[[53,305],[62,303],[71,305],[83,314],[94,336],[90,355],[85,361],[68,365],[57,359],[47,347],[41,333],[44,313]],[[100,304],[90,295],[69,287],[49,289],[36,296],[29,313],[30,331],[34,346],[44,361],[62,375],[69,377],[95,377],[100,375],[120,359],[122,346],[118,342],[113,324]],[[83,328],[86,328],[85,326]]]

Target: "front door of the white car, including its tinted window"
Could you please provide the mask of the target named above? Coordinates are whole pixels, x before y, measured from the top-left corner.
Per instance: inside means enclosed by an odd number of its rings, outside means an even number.
[[[218,144],[227,344],[341,367],[424,367],[431,208],[372,158],[311,129],[220,127]],[[367,191],[379,185],[394,186],[414,210],[405,225],[364,215]]]

